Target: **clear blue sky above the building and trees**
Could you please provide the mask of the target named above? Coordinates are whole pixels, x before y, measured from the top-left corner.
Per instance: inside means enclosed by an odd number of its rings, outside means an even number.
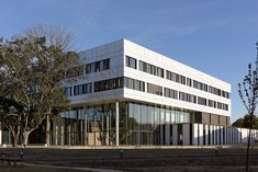
[[[237,83],[256,60],[257,0],[0,0],[0,36],[35,24],[71,31],[83,50],[122,37],[232,84],[232,122],[246,113]]]

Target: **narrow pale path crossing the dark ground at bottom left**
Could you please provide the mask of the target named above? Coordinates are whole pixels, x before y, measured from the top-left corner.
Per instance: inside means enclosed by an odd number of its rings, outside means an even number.
[[[71,169],[71,170],[81,170],[90,172],[125,172],[121,170],[108,170],[108,169],[93,169],[93,168],[76,168],[76,167],[59,167],[59,165],[48,165],[48,164],[35,164],[35,163],[24,163],[27,167],[41,167],[41,168],[56,168],[56,169]]]

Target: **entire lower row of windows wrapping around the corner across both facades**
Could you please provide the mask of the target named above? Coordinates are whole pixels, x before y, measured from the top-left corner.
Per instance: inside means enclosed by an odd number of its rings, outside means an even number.
[[[97,81],[94,82],[94,92],[113,90],[113,89],[119,89],[123,87],[145,92],[145,82],[126,78],[126,77]],[[65,93],[67,96],[72,95],[71,89],[72,87],[65,88]],[[91,92],[92,92],[91,83],[85,83],[85,84],[79,84],[79,85],[74,87],[74,95],[87,94]],[[153,83],[147,83],[147,92],[162,96],[162,87],[153,84]],[[178,92],[176,90],[168,89],[168,88],[164,88],[164,92],[165,92],[164,96],[167,96],[167,98],[178,99],[178,100],[190,102],[190,103],[198,103],[200,105],[205,105],[205,106],[207,105],[210,107],[214,107],[214,108],[217,107],[220,110],[228,111],[228,105],[221,103],[221,102],[206,100],[204,98],[192,95],[192,94],[184,93],[184,92]]]

